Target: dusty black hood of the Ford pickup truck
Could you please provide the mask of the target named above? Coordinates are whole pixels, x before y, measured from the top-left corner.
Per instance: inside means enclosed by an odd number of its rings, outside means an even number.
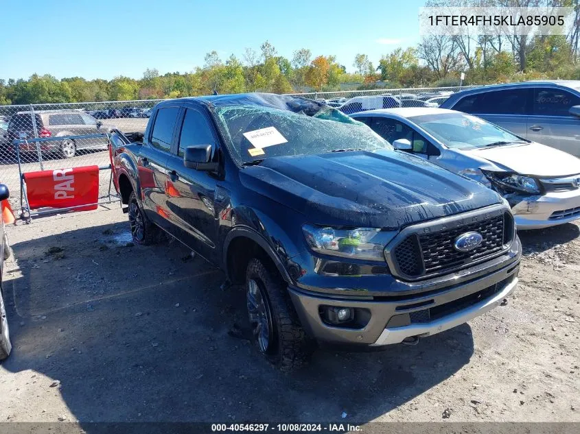
[[[497,204],[478,182],[403,152],[336,152],[266,158],[242,184],[311,224],[397,229]]]

